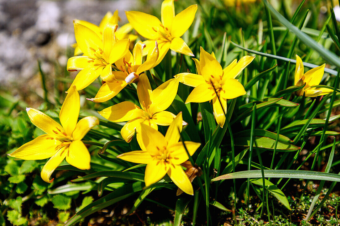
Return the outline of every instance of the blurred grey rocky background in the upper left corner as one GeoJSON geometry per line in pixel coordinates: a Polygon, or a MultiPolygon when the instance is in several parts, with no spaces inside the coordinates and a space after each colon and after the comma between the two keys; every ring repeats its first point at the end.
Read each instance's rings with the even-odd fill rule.
{"type": "Polygon", "coordinates": [[[118,10],[120,24],[124,24],[127,22],[124,11],[150,5],[146,3],[140,0],[0,0],[0,95],[10,93],[37,107],[43,95],[37,62],[41,62],[47,83],[53,83],[60,73],[60,65],[67,63],[67,51],[73,52],[70,48],[75,42],[73,19],[98,25],[107,11],[118,10]]]}

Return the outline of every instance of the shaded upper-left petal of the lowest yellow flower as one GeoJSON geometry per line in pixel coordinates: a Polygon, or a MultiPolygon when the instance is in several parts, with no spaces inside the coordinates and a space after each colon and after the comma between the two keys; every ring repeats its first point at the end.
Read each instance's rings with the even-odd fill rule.
{"type": "Polygon", "coordinates": [[[143,151],[147,151],[151,155],[159,155],[158,151],[167,147],[167,140],[163,134],[145,124],[140,125],[138,143],[143,151]]]}

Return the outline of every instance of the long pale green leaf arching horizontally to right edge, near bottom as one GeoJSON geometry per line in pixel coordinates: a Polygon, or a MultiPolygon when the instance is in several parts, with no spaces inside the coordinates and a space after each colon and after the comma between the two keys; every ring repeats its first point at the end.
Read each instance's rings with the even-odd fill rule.
{"type": "MultiPolygon", "coordinates": [[[[334,173],[322,173],[316,171],[305,170],[263,170],[265,177],[270,178],[296,178],[309,180],[324,180],[340,182],[340,175],[334,173]]],[[[211,181],[220,181],[236,178],[260,178],[262,177],[261,170],[248,170],[235,173],[224,174],[213,178],[211,181]]]]}

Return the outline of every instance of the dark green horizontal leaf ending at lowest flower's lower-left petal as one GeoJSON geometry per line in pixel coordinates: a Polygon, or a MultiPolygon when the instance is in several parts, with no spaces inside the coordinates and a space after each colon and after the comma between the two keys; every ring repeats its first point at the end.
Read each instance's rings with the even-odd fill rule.
{"type": "Polygon", "coordinates": [[[86,176],[73,179],[71,182],[79,182],[79,181],[84,181],[88,180],[91,178],[96,178],[100,176],[108,176],[108,177],[118,177],[118,178],[124,178],[124,179],[129,179],[129,180],[134,180],[134,181],[140,181],[144,182],[144,174],[141,173],[135,173],[135,172],[121,172],[121,171],[101,171],[97,173],[91,173],[86,176]]]}

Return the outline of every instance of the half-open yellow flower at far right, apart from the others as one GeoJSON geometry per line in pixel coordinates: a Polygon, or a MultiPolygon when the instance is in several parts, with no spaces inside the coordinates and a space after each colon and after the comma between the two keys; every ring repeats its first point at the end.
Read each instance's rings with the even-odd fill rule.
{"type": "Polygon", "coordinates": [[[320,84],[322,76],[325,70],[325,63],[317,68],[310,69],[304,73],[303,62],[299,56],[296,55],[296,66],[295,66],[295,86],[301,86],[306,83],[306,86],[299,91],[296,91],[297,96],[316,97],[333,93],[333,90],[327,88],[311,88],[311,86],[317,86],[320,84]]]}

